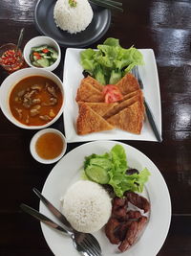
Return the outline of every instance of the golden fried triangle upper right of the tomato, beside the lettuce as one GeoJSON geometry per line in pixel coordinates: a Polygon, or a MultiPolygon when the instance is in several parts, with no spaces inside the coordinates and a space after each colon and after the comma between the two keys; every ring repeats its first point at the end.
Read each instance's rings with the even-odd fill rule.
{"type": "Polygon", "coordinates": [[[122,95],[139,89],[138,80],[131,73],[127,73],[120,81],[115,84],[118,86],[122,95]]]}

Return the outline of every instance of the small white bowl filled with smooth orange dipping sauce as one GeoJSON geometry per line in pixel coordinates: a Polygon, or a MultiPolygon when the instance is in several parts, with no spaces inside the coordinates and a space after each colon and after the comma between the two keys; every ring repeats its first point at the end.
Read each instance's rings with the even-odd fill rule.
{"type": "Polygon", "coordinates": [[[44,128],[34,134],[30,144],[32,157],[42,164],[57,162],[66,152],[65,136],[55,128],[44,128]]]}

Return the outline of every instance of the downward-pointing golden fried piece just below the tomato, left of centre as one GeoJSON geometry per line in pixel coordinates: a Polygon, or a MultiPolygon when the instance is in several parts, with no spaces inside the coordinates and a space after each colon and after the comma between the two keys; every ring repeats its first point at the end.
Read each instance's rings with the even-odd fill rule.
{"type": "Polygon", "coordinates": [[[110,109],[112,109],[117,103],[106,104],[106,103],[82,103],[78,102],[78,105],[85,104],[90,106],[98,115],[103,116],[110,109]]]}

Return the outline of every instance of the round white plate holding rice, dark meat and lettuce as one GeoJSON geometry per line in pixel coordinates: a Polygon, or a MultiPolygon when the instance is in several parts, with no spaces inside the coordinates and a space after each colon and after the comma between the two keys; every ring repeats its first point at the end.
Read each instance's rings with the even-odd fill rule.
{"type": "MultiPolygon", "coordinates": [[[[60,198],[66,189],[79,178],[84,157],[91,153],[104,153],[110,151],[116,144],[124,147],[127,155],[128,165],[138,170],[147,167],[151,173],[146,184],[146,191],[151,202],[151,213],[149,222],[137,244],[134,244],[122,255],[127,256],[155,256],[164,243],[168,233],[171,220],[171,201],[167,186],[159,169],[142,152],[123,143],[114,141],[96,141],[86,143],[75,148],[66,154],[53,168],[48,176],[42,194],[53,202],[53,205],[60,209],[60,198]]],[[[49,210],[40,203],[40,212],[53,218],[49,210]]],[[[56,256],[79,256],[74,249],[71,239],[56,230],[41,224],[47,244],[56,256]]],[[[117,256],[117,245],[110,244],[103,231],[94,233],[102,248],[103,256],[117,256]]]]}

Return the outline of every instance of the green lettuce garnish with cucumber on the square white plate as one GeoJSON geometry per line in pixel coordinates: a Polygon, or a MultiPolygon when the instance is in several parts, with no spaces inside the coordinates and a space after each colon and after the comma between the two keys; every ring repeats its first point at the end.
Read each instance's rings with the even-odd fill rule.
{"type": "Polygon", "coordinates": [[[134,66],[143,64],[143,57],[135,47],[124,49],[117,38],[109,37],[97,45],[97,51],[89,48],[81,52],[83,69],[102,84],[115,84],[134,66]]]}

